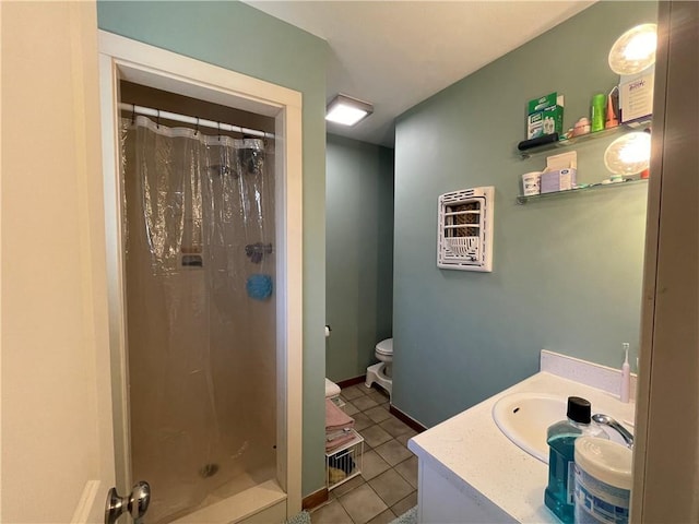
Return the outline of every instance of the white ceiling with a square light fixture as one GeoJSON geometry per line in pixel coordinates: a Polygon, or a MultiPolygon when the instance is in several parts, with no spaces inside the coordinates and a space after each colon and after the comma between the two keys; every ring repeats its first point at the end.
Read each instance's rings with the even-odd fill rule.
{"type": "Polygon", "coordinates": [[[328,131],[393,146],[394,119],[594,3],[592,1],[269,1],[246,3],[328,41],[327,102],[374,104],[328,131]]]}

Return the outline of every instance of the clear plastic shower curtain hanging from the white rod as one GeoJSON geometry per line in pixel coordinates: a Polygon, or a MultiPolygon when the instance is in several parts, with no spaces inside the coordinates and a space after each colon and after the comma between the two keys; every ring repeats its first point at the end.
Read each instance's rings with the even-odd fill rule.
{"type": "Polygon", "coordinates": [[[275,477],[271,152],[122,129],[131,469],[168,522],[275,477]]]}

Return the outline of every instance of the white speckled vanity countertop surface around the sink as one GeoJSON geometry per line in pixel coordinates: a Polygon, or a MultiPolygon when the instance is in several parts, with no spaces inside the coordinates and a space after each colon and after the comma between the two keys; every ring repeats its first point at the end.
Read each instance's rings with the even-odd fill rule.
{"type": "Polygon", "coordinates": [[[517,522],[557,523],[544,505],[548,466],[512,443],[493,420],[499,398],[529,392],[582,396],[591,402],[592,413],[611,415],[626,427],[633,420],[633,403],[624,404],[604,390],[542,371],[413,437],[407,446],[420,463],[425,461],[478,504],[495,504],[517,522]]]}

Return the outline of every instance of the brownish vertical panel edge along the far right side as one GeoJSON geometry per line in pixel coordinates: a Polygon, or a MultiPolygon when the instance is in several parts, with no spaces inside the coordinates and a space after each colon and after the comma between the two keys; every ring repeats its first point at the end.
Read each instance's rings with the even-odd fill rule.
{"type": "Polygon", "coordinates": [[[661,2],[632,522],[699,522],[699,3],[661,2]]]}

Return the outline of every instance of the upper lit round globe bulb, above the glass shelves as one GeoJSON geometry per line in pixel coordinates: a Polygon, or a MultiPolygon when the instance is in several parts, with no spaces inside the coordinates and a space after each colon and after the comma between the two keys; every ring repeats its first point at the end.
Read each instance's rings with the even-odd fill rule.
{"type": "Polygon", "coordinates": [[[641,24],[630,28],[612,46],[609,68],[617,74],[636,74],[655,63],[657,25],[641,24]]]}

